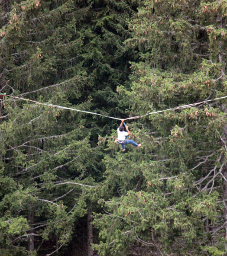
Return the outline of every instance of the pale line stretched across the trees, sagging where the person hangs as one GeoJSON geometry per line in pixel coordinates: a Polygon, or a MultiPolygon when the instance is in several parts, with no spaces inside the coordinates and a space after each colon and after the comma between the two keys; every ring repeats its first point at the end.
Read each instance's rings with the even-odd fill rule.
{"type": "MultiPolygon", "coordinates": [[[[63,106],[60,106],[60,105],[53,105],[53,104],[47,104],[47,103],[40,103],[40,102],[38,102],[38,101],[29,100],[29,99],[20,98],[20,97],[15,97],[15,96],[12,96],[12,95],[6,95],[6,94],[5,94],[5,96],[11,97],[11,98],[17,98],[17,99],[19,99],[19,100],[24,100],[24,101],[31,101],[31,102],[33,102],[33,103],[40,104],[40,105],[47,105],[48,107],[55,107],[55,108],[60,108],[60,109],[79,111],[79,112],[83,112],[83,113],[87,113],[87,114],[95,114],[95,115],[97,115],[97,116],[108,117],[108,118],[110,118],[110,119],[122,120],[122,119],[119,119],[119,118],[117,118],[117,117],[105,116],[105,115],[98,114],[98,113],[94,113],[94,112],[90,112],[90,111],[77,110],[77,109],[75,109],[75,108],[63,107],[63,106]]],[[[192,103],[192,104],[188,104],[188,105],[181,105],[181,106],[179,106],[179,107],[167,108],[166,110],[154,111],[154,112],[150,112],[150,113],[144,114],[144,115],[142,115],[142,116],[128,117],[128,118],[126,118],[126,119],[124,119],[124,120],[139,119],[139,118],[141,118],[141,117],[149,116],[149,115],[151,115],[151,114],[157,114],[157,113],[161,113],[161,112],[165,112],[165,111],[170,111],[170,110],[180,110],[180,109],[182,109],[182,108],[193,107],[194,105],[199,105],[199,104],[206,103],[206,102],[209,102],[209,101],[222,100],[223,98],[227,98],[227,96],[223,96],[223,97],[220,97],[220,98],[215,98],[215,99],[213,99],[213,100],[200,101],[199,103],[192,103]]]]}

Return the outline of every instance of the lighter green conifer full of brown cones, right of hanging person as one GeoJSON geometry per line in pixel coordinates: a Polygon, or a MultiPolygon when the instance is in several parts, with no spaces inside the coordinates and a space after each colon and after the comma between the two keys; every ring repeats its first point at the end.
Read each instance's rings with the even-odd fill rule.
{"type": "MultiPolygon", "coordinates": [[[[141,1],[127,49],[139,51],[119,94],[129,116],[226,96],[224,1],[141,1]]],[[[128,122],[129,123],[129,122],[128,122]]],[[[131,122],[142,149],[109,139],[111,199],[97,215],[101,255],[225,255],[226,99],[131,122]]],[[[114,132],[113,132],[114,133],[114,132]]]]}

